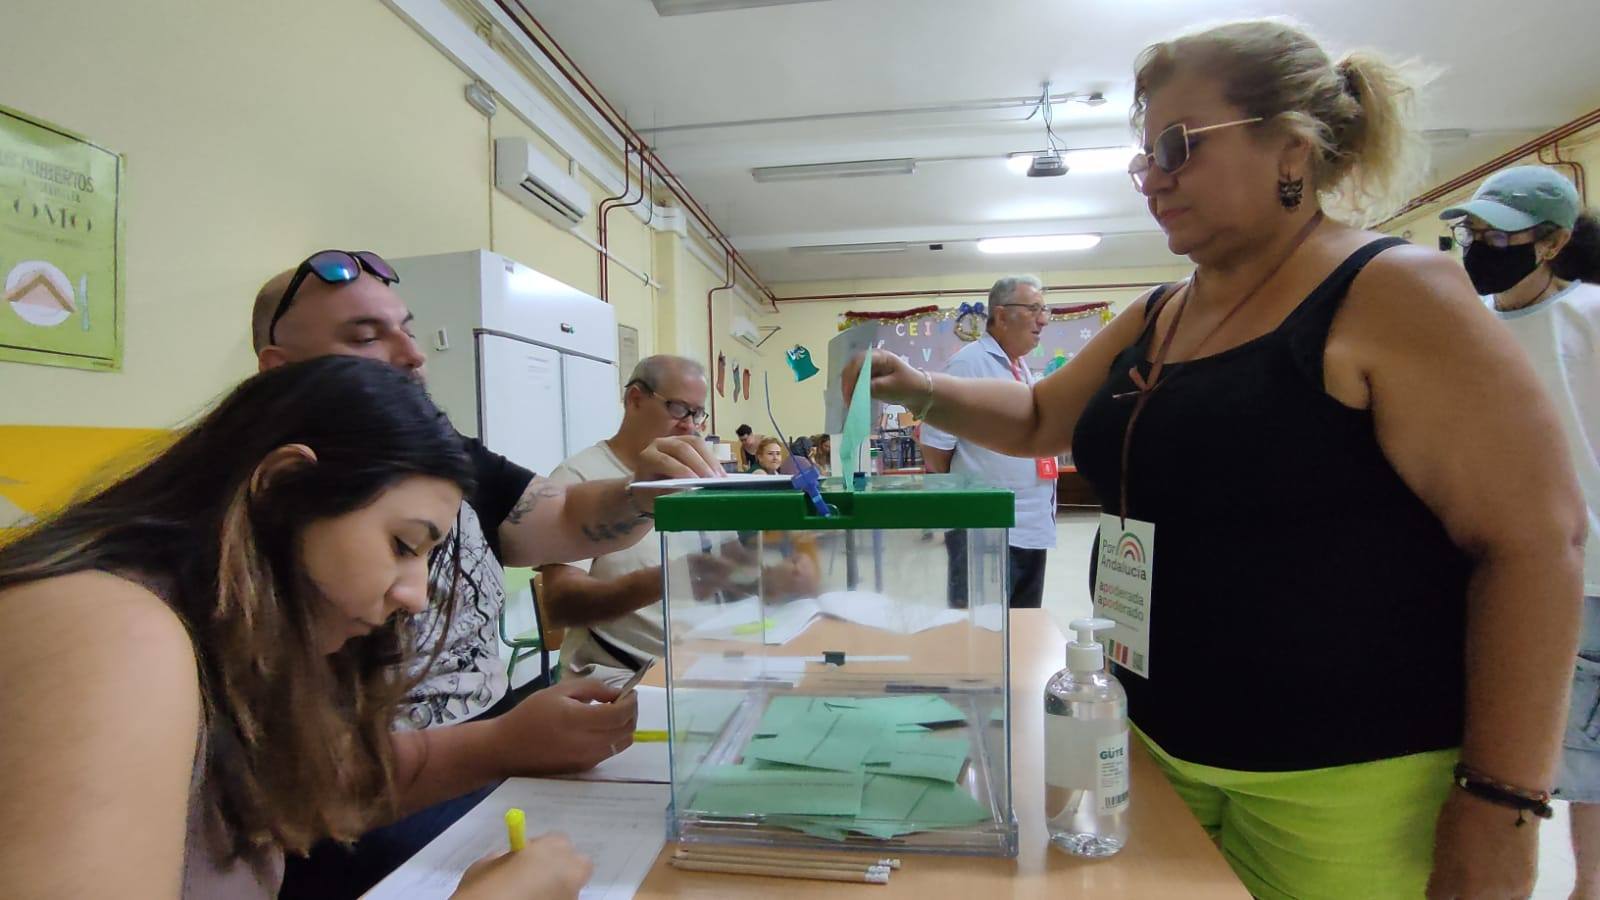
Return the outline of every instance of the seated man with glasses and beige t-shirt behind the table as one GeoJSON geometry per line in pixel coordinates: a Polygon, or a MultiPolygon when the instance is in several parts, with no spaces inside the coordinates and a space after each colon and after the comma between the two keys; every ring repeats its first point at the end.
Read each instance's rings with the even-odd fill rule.
{"type": "MultiPolygon", "coordinates": [[[[550,472],[558,485],[632,477],[651,440],[698,434],[706,423],[706,368],[678,356],[638,362],[622,392],[622,424],[550,472]]],[[[638,543],[568,565],[546,565],[544,610],[552,628],[570,628],[562,645],[568,673],[624,681],[662,655],[661,541],[638,543]]]]}

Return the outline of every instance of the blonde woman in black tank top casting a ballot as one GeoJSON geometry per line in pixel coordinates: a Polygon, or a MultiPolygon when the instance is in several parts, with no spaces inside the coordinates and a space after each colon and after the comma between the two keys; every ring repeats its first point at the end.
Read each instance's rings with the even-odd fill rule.
{"type": "Polygon", "coordinates": [[[1152,528],[1130,717],[1264,900],[1525,897],[1555,780],[1582,500],[1461,267],[1358,227],[1416,171],[1408,93],[1274,21],[1157,43],[1131,175],[1194,275],[1032,388],[872,356],[1152,528]]]}

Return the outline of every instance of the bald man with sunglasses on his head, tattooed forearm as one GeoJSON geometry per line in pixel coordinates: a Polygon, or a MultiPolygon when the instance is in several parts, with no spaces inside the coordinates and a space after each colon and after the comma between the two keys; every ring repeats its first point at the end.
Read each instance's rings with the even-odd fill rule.
{"type": "MultiPolygon", "coordinates": [[[[397,280],[378,255],[338,250],[314,253],[272,277],[256,295],[251,315],[259,368],[346,354],[384,360],[422,380],[427,357],[411,333],[411,311],[394,290],[397,280]]],[[[475,439],[466,445],[477,487],[461,504],[451,540],[430,560],[434,602],[414,629],[414,674],[422,681],[397,724],[429,729],[418,751],[448,754],[450,765],[429,769],[454,777],[402,785],[402,810],[421,812],[363,838],[354,855],[320,847],[310,863],[291,860],[280,897],[358,895],[482,799],[485,785],[510,775],[590,769],[634,740],[637,700],[610,703],[616,692],[595,681],[573,679],[518,703],[522,697],[509,690],[499,660],[501,567],[627,549],[650,532],[653,500],[629,492],[629,479],[621,477],[555,485],[475,439]],[[451,594],[456,612],[446,620],[443,601],[451,594]],[[432,658],[445,628],[443,650],[432,658]],[[424,809],[448,798],[458,799],[424,809]]],[[[634,472],[632,480],[654,480],[717,476],[720,468],[710,450],[686,434],[650,442],[634,472]]]]}

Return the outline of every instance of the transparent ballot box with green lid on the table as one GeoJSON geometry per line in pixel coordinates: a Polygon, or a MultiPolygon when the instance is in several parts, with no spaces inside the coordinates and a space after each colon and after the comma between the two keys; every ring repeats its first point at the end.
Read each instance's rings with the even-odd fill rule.
{"type": "Polygon", "coordinates": [[[1013,496],[869,482],[656,503],[674,839],[1016,855],[1013,496]]]}

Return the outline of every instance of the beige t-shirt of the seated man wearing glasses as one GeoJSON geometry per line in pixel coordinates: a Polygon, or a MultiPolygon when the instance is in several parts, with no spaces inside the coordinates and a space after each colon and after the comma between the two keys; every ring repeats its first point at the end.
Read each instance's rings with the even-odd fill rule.
{"type": "MultiPolygon", "coordinates": [[[[624,466],[603,440],[594,447],[573,453],[566,458],[566,461],[557,466],[554,472],[550,472],[550,480],[560,485],[574,485],[597,479],[632,477],[632,469],[624,466]]],[[[659,567],[661,540],[656,536],[656,528],[651,525],[650,532],[646,532],[638,543],[627,549],[619,549],[594,559],[570,562],[568,565],[582,569],[594,578],[621,578],[624,575],[632,575],[640,569],[659,567]]],[[[645,609],[634,610],[621,618],[613,618],[611,621],[602,625],[573,628],[566,633],[566,639],[562,642],[563,665],[574,669],[589,665],[600,665],[613,669],[632,668],[626,666],[624,660],[614,658],[595,644],[592,633],[598,633],[603,641],[618,650],[632,655],[634,660],[659,657],[666,652],[661,618],[661,602],[658,601],[645,609]]]]}

